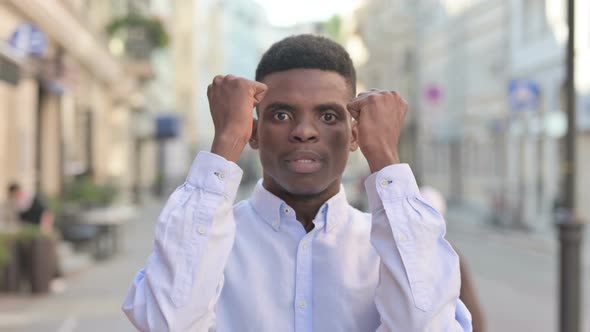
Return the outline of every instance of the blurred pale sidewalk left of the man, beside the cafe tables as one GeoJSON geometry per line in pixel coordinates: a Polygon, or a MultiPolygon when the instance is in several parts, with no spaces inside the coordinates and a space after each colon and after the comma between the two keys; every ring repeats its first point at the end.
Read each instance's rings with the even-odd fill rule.
{"type": "Polygon", "coordinates": [[[139,206],[138,218],[123,226],[121,251],[67,277],[63,293],[0,295],[0,331],[131,331],[121,304],[151,250],[163,204],[149,200],[139,206]]]}

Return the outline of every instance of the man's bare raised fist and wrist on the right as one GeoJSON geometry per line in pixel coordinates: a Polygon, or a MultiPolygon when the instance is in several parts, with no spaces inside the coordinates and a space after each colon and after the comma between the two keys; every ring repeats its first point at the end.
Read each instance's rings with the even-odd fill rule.
{"type": "Polygon", "coordinates": [[[395,91],[372,89],[360,93],[347,105],[358,122],[358,143],[371,173],[398,164],[398,143],[408,103],[395,91]]]}

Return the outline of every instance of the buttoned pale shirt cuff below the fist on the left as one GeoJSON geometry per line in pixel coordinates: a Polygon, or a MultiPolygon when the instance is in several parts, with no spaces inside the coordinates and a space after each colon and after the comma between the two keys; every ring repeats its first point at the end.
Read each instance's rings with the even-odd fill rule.
{"type": "Polygon", "coordinates": [[[234,162],[206,151],[195,157],[186,182],[192,186],[235,200],[243,175],[234,162]]]}

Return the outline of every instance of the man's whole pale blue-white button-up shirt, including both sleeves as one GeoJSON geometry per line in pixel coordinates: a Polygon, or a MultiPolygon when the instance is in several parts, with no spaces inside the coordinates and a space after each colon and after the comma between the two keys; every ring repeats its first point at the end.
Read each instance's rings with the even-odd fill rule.
{"type": "Polygon", "coordinates": [[[141,331],[471,331],[443,218],[408,165],[366,180],[371,214],[344,190],[307,233],[242,170],[201,152],[170,197],[155,246],[123,304],[141,331]]]}

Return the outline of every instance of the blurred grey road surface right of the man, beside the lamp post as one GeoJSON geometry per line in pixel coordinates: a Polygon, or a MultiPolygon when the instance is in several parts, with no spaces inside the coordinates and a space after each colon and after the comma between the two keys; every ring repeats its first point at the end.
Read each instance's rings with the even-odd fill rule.
{"type": "MultiPolygon", "coordinates": [[[[486,331],[557,331],[556,233],[531,235],[483,223],[468,209],[449,209],[447,239],[471,271],[486,331]]],[[[590,276],[589,243],[586,237],[584,280],[590,276]]],[[[590,304],[590,289],[584,289],[582,302],[590,304]]],[[[582,313],[582,319],[581,331],[590,331],[590,315],[582,313]]]]}

